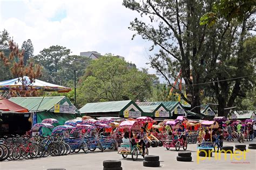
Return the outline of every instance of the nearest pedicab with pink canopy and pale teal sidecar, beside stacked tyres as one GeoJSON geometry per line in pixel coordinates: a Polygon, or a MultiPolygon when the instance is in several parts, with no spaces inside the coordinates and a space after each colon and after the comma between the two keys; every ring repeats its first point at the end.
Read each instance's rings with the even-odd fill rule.
{"type": "MultiPolygon", "coordinates": [[[[150,120],[150,119],[148,119],[150,120]]],[[[143,126],[143,124],[145,123],[145,121],[142,120],[125,120],[122,121],[118,127],[119,131],[123,131],[123,132],[129,132],[130,136],[132,132],[136,132],[139,131],[140,127],[143,126]]],[[[138,155],[143,155],[143,149],[142,146],[139,145],[139,140],[135,140],[137,142],[136,145],[132,145],[131,142],[129,145],[126,144],[120,144],[118,146],[118,154],[122,154],[123,158],[127,158],[128,155],[132,155],[132,160],[137,160],[138,159],[138,155]]],[[[145,147],[145,154],[148,155],[149,154],[149,149],[147,149],[147,147],[145,147]]]]}

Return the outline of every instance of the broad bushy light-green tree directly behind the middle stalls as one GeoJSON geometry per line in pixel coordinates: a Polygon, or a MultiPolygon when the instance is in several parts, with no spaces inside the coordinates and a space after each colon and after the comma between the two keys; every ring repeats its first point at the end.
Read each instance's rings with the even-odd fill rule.
{"type": "Polygon", "coordinates": [[[80,79],[78,105],[96,101],[140,100],[151,96],[154,78],[146,70],[130,68],[117,57],[101,57],[80,79]]]}

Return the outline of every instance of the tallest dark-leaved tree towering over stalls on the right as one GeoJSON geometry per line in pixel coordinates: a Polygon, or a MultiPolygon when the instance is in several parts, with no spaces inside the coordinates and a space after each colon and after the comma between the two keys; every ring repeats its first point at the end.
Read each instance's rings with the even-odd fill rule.
{"type": "Polygon", "coordinates": [[[129,29],[136,32],[134,36],[152,42],[150,50],[159,47],[150,63],[169,86],[170,79],[175,79],[181,70],[187,98],[177,89],[174,92],[195,107],[194,112],[200,112],[196,107],[201,105],[200,92],[211,90],[219,104],[218,114],[227,115],[224,108],[234,105],[242,93],[242,81],[253,84],[250,75],[254,58],[243,57],[247,52],[243,44],[252,37],[249,30],[254,30],[254,10],[246,11],[241,21],[224,17],[207,26],[199,23],[201,16],[212,11],[211,0],[124,0],[123,5],[142,17],[135,18],[129,29]],[[242,78],[233,79],[237,77],[242,78]]]}

